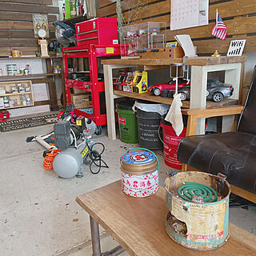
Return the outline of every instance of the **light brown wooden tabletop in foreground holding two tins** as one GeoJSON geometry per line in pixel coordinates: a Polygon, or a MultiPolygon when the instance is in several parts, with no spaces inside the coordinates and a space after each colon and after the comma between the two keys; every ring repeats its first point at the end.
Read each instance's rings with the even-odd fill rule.
{"type": "Polygon", "coordinates": [[[186,249],[174,242],[165,230],[165,190],[149,198],[131,198],[122,193],[121,181],[82,194],[76,201],[119,244],[134,256],[253,256],[253,234],[230,224],[230,239],[218,250],[186,249]]]}

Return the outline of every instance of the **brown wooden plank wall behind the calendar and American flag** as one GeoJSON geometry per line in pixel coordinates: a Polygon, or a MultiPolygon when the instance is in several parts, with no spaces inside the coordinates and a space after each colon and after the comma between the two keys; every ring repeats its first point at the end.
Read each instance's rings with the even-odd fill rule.
{"type": "MultiPolygon", "coordinates": [[[[127,18],[130,0],[122,0],[123,15],[127,18]]],[[[99,17],[116,17],[115,0],[98,1],[99,17]]],[[[211,36],[214,26],[216,8],[226,25],[228,37],[218,40],[218,51],[226,53],[230,40],[246,39],[245,52],[256,51],[256,1],[255,0],[210,0],[209,25],[183,30],[170,30],[170,0],[142,0],[148,4],[147,9],[138,15],[137,22],[166,22],[167,42],[174,40],[176,34],[190,34],[198,54],[212,54],[215,50],[215,39],[211,36]]]]}

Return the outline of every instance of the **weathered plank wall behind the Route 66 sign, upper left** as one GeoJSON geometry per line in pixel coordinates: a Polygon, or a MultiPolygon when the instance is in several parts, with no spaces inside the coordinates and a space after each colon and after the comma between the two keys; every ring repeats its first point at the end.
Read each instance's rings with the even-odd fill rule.
{"type": "Polygon", "coordinates": [[[47,14],[50,38],[54,38],[52,22],[59,9],[52,5],[52,0],[0,0],[0,55],[11,55],[11,50],[21,50],[23,55],[38,51],[32,14],[47,14]]]}

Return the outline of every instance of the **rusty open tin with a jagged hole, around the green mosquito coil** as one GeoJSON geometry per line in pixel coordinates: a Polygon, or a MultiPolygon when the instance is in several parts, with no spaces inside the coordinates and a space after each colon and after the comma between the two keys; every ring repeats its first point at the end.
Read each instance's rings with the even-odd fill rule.
{"type": "Polygon", "coordinates": [[[194,250],[214,250],[228,240],[230,185],[225,178],[202,172],[180,172],[166,178],[166,232],[178,244],[194,250]],[[186,183],[187,182],[187,183],[186,183]],[[189,182],[209,186],[217,192],[216,202],[192,202],[178,195],[189,182]]]}

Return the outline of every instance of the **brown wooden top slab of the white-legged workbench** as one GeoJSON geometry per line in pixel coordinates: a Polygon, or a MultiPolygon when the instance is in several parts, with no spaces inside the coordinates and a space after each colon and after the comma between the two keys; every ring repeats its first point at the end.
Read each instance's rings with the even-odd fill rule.
{"type": "MultiPolygon", "coordinates": [[[[182,58],[155,58],[155,59],[136,59],[136,58],[113,58],[103,59],[103,65],[131,65],[131,66],[168,66],[174,63],[182,63],[182,58]]],[[[231,64],[238,62],[246,62],[246,55],[233,57],[194,57],[186,58],[186,65],[190,66],[210,66],[219,64],[231,64]]]]}

